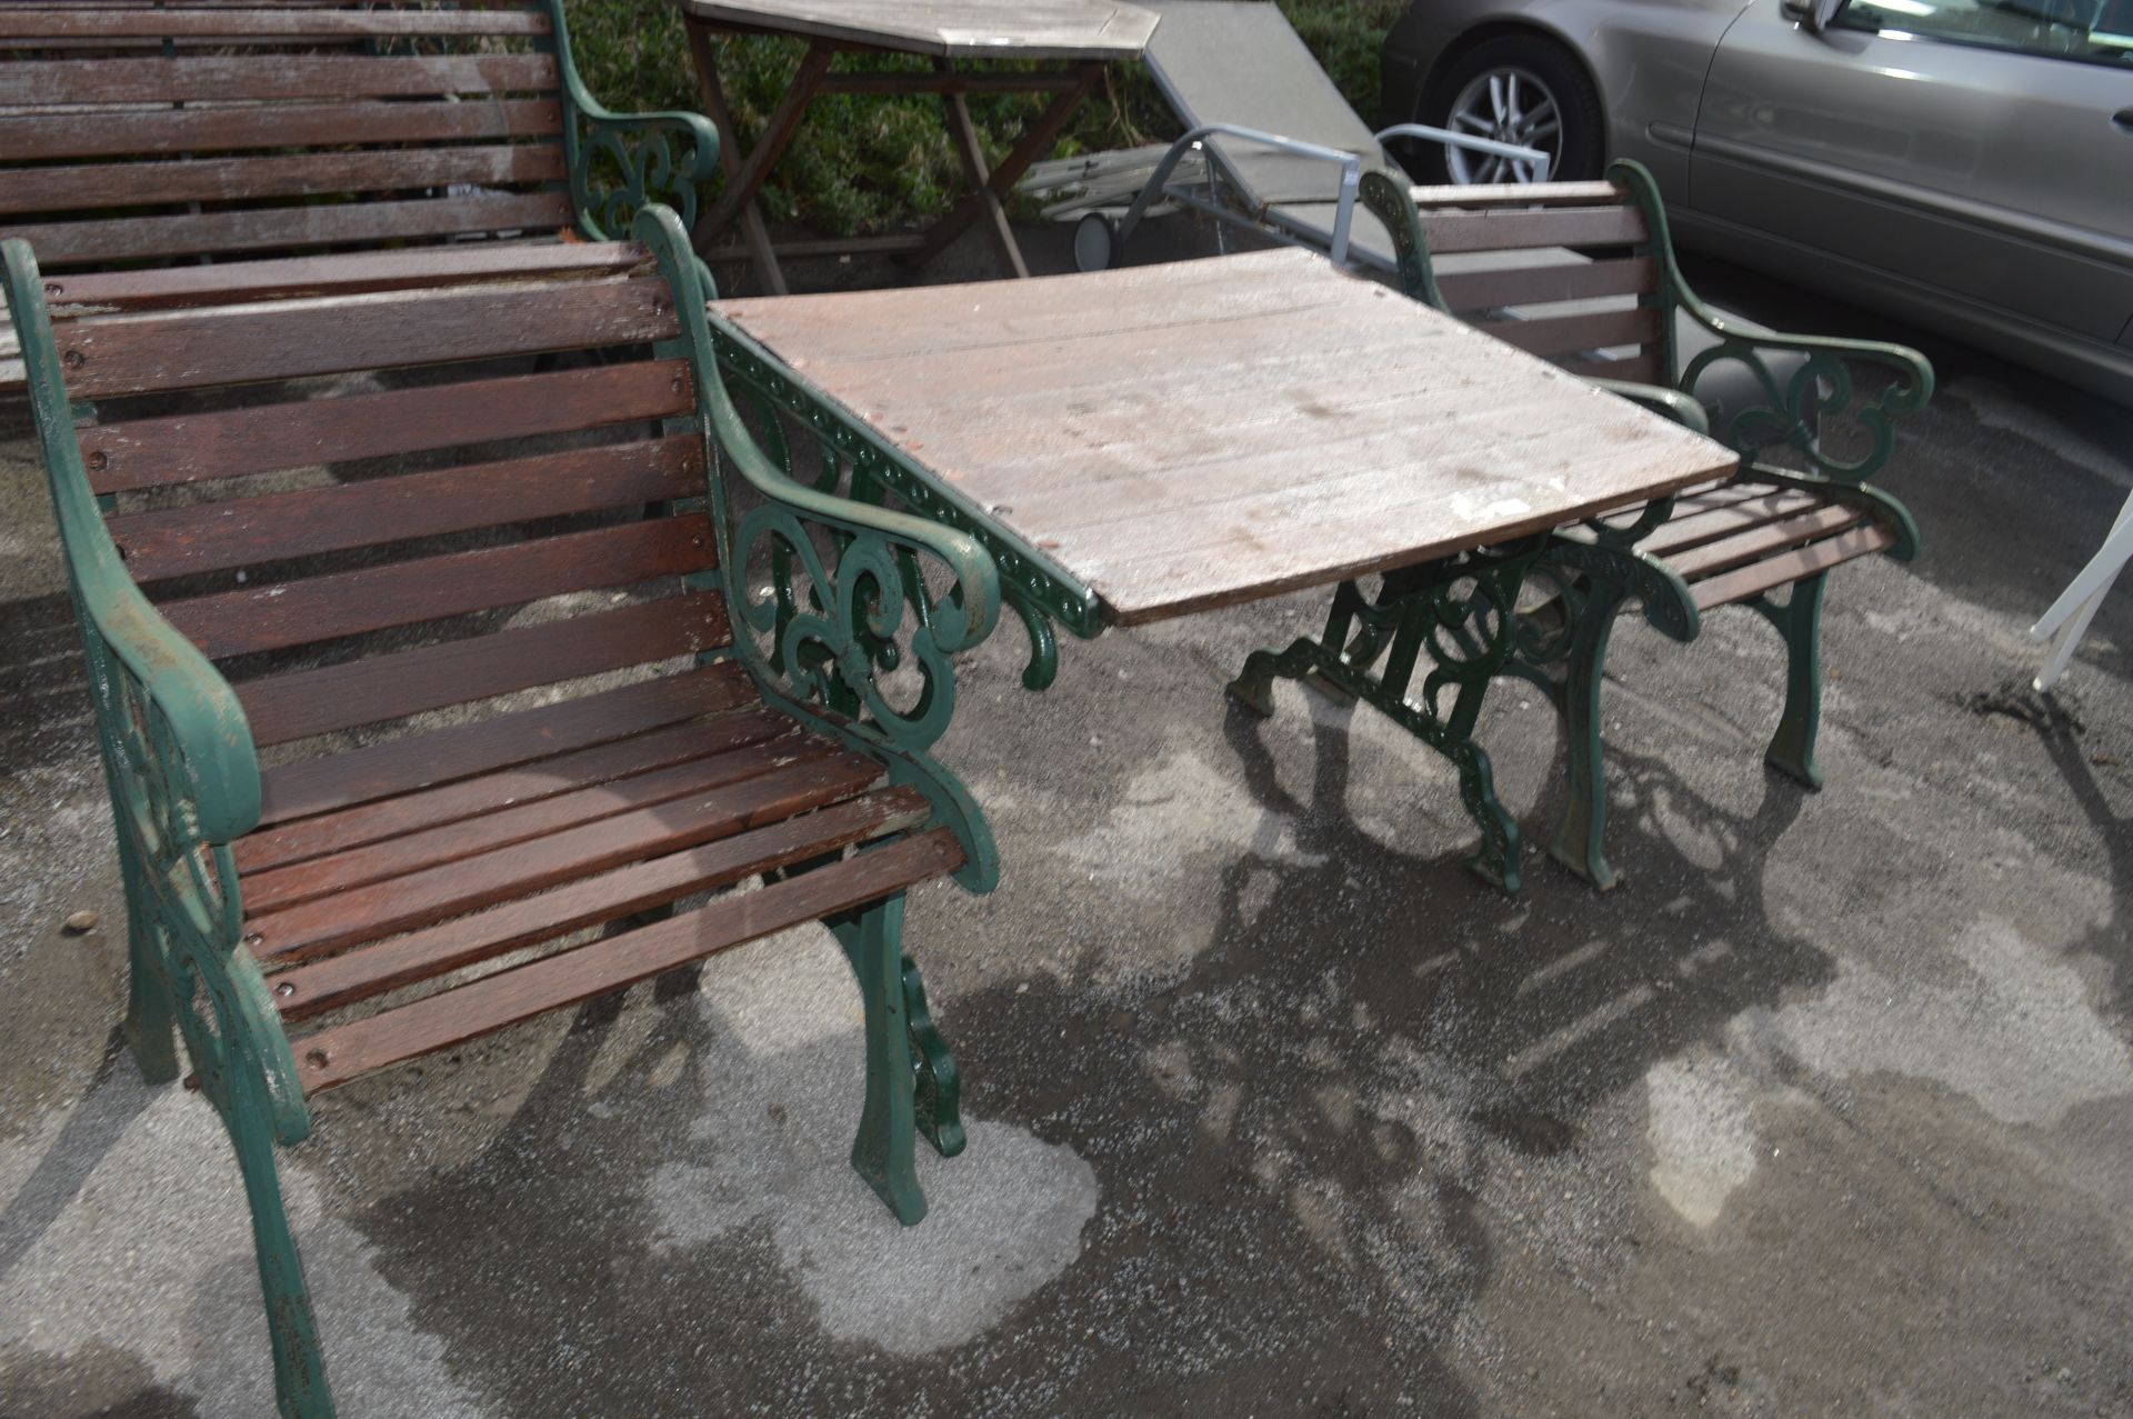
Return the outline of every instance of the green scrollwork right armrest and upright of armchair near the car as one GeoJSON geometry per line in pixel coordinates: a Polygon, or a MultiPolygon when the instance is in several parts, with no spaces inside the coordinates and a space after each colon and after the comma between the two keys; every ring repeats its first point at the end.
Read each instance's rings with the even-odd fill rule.
{"type": "Polygon", "coordinates": [[[1672,309],[1681,309],[1717,337],[1713,348],[1670,369],[1674,386],[1694,390],[1704,371],[1732,363],[1747,369],[1762,395],[1758,403],[1728,410],[1719,427],[1711,429],[1713,437],[1745,457],[1773,444],[1790,446],[1813,474],[1832,482],[1862,482],[1879,472],[1896,448],[1894,420],[1915,414],[1932,399],[1932,365],[1926,356],[1888,341],[1785,335],[1711,309],[1681,277],[1666,205],[1651,173],[1640,162],[1623,158],[1608,166],[1608,181],[1638,205],[1651,230],[1647,254],[1659,262],[1659,307],[1662,316],[1668,316],[1662,329],[1668,333],[1668,346],[1672,348],[1672,309]],[[1800,356],[1798,369],[1781,380],[1770,369],[1775,354],[1800,356]],[[1877,388],[1862,388],[1854,365],[1873,365],[1890,378],[1877,388]],[[1826,422],[1834,416],[1847,416],[1864,431],[1866,450],[1856,459],[1841,459],[1824,448],[1826,422]]]}

